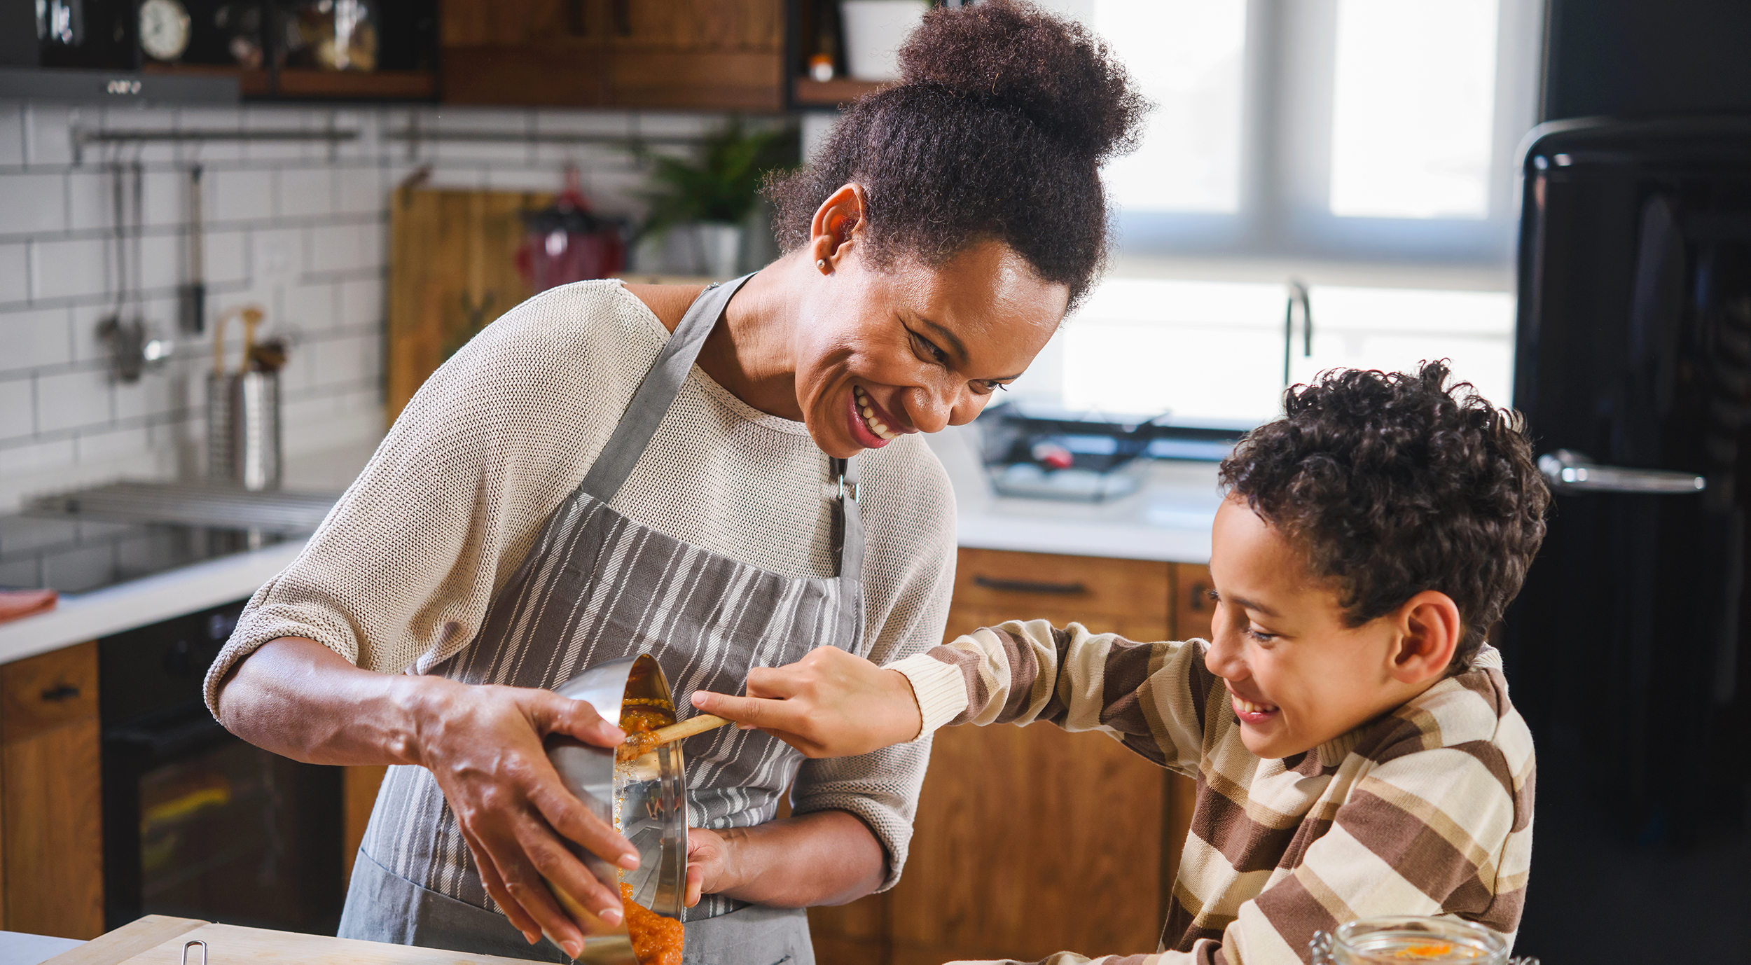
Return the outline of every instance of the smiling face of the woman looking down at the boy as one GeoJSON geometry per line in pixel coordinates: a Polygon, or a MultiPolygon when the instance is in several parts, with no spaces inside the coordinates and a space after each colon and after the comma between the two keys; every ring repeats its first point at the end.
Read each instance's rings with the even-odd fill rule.
{"type": "Polygon", "coordinates": [[[1019,377],[1065,315],[1070,289],[1010,247],[979,242],[940,266],[872,266],[839,247],[795,329],[797,405],[833,457],[963,426],[1019,377]]]}

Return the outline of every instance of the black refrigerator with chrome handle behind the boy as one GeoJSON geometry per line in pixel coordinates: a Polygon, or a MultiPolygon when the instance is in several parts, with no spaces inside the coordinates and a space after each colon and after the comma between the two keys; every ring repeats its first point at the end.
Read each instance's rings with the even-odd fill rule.
{"type": "Polygon", "coordinates": [[[1751,117],[1525,152],[1515,408],[1550,532],[1501,629],[1537,744],[1518,954],[1751,961],[1751,117]]]}

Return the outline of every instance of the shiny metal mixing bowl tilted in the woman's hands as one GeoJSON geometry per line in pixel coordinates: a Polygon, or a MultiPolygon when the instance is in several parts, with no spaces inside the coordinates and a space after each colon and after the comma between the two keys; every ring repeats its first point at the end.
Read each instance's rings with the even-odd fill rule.
{"type": "MultiPolygon", "coordinates": [[[[588,701],[604,720],[620,722],[623,706],[641,706],[674,723],[674,699],[662,667],[648,653],[623,657],[583,671],[557,688],[562,697],[588,701]]],[[[644,755],[615,764],[613,748],[595,748],[573,737],[552,736],[548,760],[571,793],[606,821],[615,820],[620,800],[620,832],[639,849],[637,870],[627,872],[632,900],[669,918],[681,918],[686,886],[686,771],[679,744],[662,744],[644,755]]],[[[573,844],[573,853],[611,891],[620,891],[615,865],[573,844]]],[[[583,928],[587,965],[637,965],[625,921],[608,925],[571,895],[553,888],[560,905],[583,928]]]]}

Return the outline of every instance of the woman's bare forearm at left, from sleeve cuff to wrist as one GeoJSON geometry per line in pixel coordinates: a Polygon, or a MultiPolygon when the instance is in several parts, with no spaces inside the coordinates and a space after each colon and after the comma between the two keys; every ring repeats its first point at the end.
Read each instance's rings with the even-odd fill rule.
{"type": "Polygon", "coordinates": [[[313,639],[280,637],[219,685],[219,723],[306,764],[420,764],[420,704],[454,681],[359,669],[313,639]]]}

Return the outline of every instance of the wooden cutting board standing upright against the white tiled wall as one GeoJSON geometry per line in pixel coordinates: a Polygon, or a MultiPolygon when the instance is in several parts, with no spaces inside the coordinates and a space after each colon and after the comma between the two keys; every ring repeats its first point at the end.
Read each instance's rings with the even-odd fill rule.
{"type": "Polygon", "coordinates": [[[538,191],[440,191],[403,186],[389,203],[389,354],[385,415],[483,324],[529,298],[517,271],[524,212],[538,191]]]}

